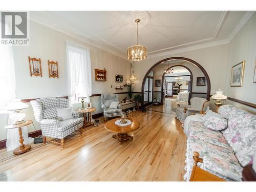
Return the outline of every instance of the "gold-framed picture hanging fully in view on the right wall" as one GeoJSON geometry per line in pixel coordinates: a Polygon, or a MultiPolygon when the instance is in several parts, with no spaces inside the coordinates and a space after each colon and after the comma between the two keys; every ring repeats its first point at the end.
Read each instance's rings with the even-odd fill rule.
{"type": "Polygon", "coordinates": [[[245,61],[238,63],[231,68],[231,87],[242,87],[243,76],[244,76],[245,61]]]}

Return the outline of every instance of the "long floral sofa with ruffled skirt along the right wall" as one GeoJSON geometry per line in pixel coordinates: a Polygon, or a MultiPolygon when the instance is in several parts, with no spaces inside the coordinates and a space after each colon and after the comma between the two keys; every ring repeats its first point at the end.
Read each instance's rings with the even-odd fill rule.
{"type": "Polygon", "coordinates": [[[200,168],[227,181],[241,181],[243,167],[252,163],[256,151],[256,115],[232,105],[221,106],[219,114],[227,120],[227,129],[223,131],[212,131],[205,127],[203,115],[186,118],[184,180],[189,181],[195,163],[194,152],[198,152],[203,159],[203,163],[198,163],[200,168]]]}

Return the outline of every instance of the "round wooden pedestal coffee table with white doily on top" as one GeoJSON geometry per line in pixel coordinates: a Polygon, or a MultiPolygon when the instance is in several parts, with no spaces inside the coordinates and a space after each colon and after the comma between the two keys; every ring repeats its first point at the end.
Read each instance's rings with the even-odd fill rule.
{"type": "Polygon", "coordinates": [[[127,118],[130,121],[132,121],[132,124],[126,125],[126,126],[118,126],[115,124],[115,121],[117,119],[120,119],[120,118],[112,119],[112,120],[109,120],[108,122],[106,122],[104,125],[105,129],[110,132],[117,133],[117,134],[113,135],[112,137],[117,139],[120,144],[122,144],[123,141],[126,141],[128,139],[133,139],[133,136],[128,135],[128,133],[134,132],[139,129],[139,127],[140,127],[139,121],[137,121],[135,119],[127,118]]]}

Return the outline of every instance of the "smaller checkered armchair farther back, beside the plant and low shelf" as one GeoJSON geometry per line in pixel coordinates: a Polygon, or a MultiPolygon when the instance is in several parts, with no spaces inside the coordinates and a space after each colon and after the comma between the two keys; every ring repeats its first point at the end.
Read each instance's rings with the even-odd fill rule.
{"type": "Polygon", "coordinates": [[[111,109],[112,101],[118,101],[118,94],[104,93],[101,94],[101,108],[103,109],[104,118],[119,117],[121,116],[121,104],[119,103],[118,109],[111,109]]]}

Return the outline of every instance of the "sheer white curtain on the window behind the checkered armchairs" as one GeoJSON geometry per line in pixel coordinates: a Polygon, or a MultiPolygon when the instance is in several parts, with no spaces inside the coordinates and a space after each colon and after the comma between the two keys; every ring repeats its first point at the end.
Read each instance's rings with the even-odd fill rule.
{"type": "MultiPolygon", "coordinates": [[[[90,49],[66,41],[66,54],[69,98],[77,93],[79,77],[81,77],[83,93],[80,94],[87,97],[86,102],[90,102],[92,95],[90,49]]],[[[71,104],[70,100],[69,103],[71,104]]]]}

